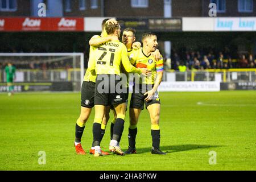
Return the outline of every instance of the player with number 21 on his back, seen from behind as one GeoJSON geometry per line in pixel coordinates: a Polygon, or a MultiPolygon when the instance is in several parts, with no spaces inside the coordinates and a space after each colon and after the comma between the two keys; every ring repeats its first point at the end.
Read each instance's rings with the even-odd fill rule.
{"type": "MultiPolygon", "coordinates": [[[[119,24],[105,24],[105,30],[108,35],[120,36],[119,24]]],[[[114,124],[113,139],[110,142],[112,152],[117,155],[123,155],[123,151],[117,145],[119,137],[122,134],[125,119],[125,96],[122,88],[120,69],[121,64],[129,73],[147,74],[146,68],[135,68],[131,65],[127,49],[119,41],[110,41],[101,44],[94,52],[94,61],[91,61],[89,68],[91,72],[96,72],[96,91],[94,96],[95,117],[93,123],[93,143],[94,156],[102,155],[100,148],[100,131],[102,118],[105,114],[105,107],[113,105],[117,113],[117,119],[114,124]]]]}

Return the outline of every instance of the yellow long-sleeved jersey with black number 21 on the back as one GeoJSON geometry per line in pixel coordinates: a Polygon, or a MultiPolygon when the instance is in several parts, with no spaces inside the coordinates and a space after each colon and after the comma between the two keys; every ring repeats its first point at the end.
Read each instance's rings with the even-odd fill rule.
{"type": "Polygon", "coordinates": [[[88,68],[96,75],[120,75],[121,64],[126,72],[141,74],[141,69],[133,67],[129,61],[125,45],[119,41],[109,41],[98,46],[92,55],[93,61],[88,68]]]}

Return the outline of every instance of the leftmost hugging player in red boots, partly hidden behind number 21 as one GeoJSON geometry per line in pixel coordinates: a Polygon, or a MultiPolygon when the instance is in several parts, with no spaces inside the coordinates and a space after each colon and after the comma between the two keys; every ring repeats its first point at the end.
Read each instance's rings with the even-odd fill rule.
{"type": "MultiPolygon", "coordinates": [[[[90,42],[97,42],[97,38],[101,38],[103,36],[106,36],[105,31],[105,23],[117,23],[114,19],[104,19],[102,21],[102,32],[101,35],[94,35],[90,42]]],[[[108,36],[105,37],[102,40],[103,42],[109,41],[109,40],[116,40],[116,36],[108,36]]],[[[97,42],[101,43],[101,42],[97,42]]],[[[90,47],[90,54],[94,51],[94,47],[90,47]]],[[[89,57],[90,58],[90,57],[89,57]]],[[[89,60],[90,61],[90,60],[89,60]]],[[[83,150],[81,146],[81,138],[82,133],[84,132],[85,123],[88,121],[90,113],[92,111],[92,107],[94,106],[94,93],[95,93],[95,81],[96,81],[96,74],[91,73],[89,70],[86,71],[84,76],[84,81],[82,82],[82,88],[81,88],[81,111],[80,111],[80,117],[76,121],[76,132],[75,132],[75,148],[76,153],[85,155],[85,151],[83,150]]],[[[108,155],[108,152],[102,151],[102,154],[108,155]]]]}

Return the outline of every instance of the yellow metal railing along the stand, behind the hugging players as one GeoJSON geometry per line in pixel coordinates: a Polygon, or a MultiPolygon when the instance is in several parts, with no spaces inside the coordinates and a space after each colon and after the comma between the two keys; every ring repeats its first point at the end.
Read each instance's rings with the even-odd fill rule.
{"type": "MultiPolygon", "coordinates": [[[[16,82],[81,82],[81,72],[76,69],[17,69],[16,82]]],[[[193,70],[179,72],[174,70],[164,71],[163,81],[256,81],[256,69],[208,69],[203,71],[193,70]]],[[[0,70],[0,82],[6,82],[6,74],[0,70]]]]}

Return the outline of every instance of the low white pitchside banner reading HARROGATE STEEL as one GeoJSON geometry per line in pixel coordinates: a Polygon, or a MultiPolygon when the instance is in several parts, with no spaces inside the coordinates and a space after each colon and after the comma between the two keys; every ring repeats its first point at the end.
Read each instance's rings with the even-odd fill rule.
{"type": "Polygon", "coordinates": [[[218,92],[220,82],[217,81],[174,81],[161,82],[159,92],[218,92]]]}

